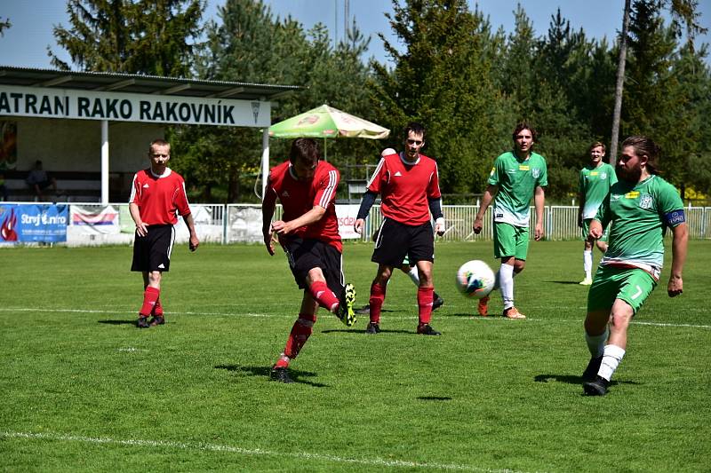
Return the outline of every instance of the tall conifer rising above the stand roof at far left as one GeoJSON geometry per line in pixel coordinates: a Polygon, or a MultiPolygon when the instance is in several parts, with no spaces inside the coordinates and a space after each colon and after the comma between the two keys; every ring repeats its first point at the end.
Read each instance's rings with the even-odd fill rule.
{"type": "MultiPolygon", "coordinates": [[[[83,70],[188,77],[204,8],[204,0],[68,0],[71,27],[53,33],[83,70]]],[[[52,66],[70,69],[47,51],[52,66]]]]}

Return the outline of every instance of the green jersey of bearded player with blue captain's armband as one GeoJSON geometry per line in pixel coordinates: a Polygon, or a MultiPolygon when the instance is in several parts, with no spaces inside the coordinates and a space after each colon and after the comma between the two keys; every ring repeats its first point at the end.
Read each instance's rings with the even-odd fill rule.
{"type": "Polygon", "coordinates": [[[640,183],[612,185],[595,220],[611,223],[609,246],[600,265],[636,267],[659,280],[667,226],[683,224],[683,201],[673,185],[652,175],[640,183]]]}

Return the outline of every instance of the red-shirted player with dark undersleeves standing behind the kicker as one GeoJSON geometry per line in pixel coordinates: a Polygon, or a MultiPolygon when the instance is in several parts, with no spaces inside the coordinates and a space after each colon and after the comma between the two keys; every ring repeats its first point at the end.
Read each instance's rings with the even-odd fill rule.
{"type": "Polygon", "coordinates": [[[375,241],[371,260],[378,263],[378,272],[371,285],[370,323],[365,331],[380,331],[380,311],[385,301],[387,281],[393,269],[403,264],[405,256],[416,264],[419,272],[417,303],[419,324],[417,333],[441,335],[429,325],[435,291],[432,264],[435,260],[435,235],[430,213],[435,218],[435,233],[444,233],[442,196],[439,191],[437,163],[419,151],[425,146],[425,128],[411,122],[404,130],[405,151],[387,154],[378,163],[368,189],[363,194],[354,228],[363,233],[365,218],[375,198],[380,194],[383,223],[375,241]]]}

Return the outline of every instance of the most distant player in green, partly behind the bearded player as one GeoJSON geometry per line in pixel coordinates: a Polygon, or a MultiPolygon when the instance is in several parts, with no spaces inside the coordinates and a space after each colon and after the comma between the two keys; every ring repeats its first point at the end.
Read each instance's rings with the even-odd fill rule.
{"type": "MultiPolygon", "coordinates": [[[[583,286],[589,286],[593,283],[593,242],[587,240],[587,233],[590,229],[590,221],[595,217],[597,209],[603,202],[603,199],[610,192],[611,185],[617,182],[615,169],[612,169],[610,164],[603,162],[605,155],[605,146],[597,141],[588,149],[590,154],[590,163],[583,169],[580,169],[578,200],[580,202],[578,209],[578,226],[581,229],[583,240],[585,240],[585,249],[583,250],[583,270],[585,271],[585,279],[580,281],[583,286]]],[[[600,240],[596,240],[597,248],[603,253],[607,251],[606,235],[600,240]]]]}

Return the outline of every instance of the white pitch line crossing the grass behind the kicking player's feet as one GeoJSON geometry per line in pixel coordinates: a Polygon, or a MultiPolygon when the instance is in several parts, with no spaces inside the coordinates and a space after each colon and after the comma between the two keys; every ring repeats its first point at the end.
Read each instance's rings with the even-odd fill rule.
{"type": "MultiPolygon", "coordinates": [[[[561,309],[556,307],[549,307],[549,309],[561,309]]],[[[96,309],[41,309],[41,308],[28,308],[28,307],[0,307],[0,312],[69,312],[69,313],[107,313],[107,314],[130,314],[135,315],[135,311],[108,311],[108,310],[96,310],[96,309]]],[[[183,312],[172,312],[166,311],[166,315],[199,315],[206,317],[253,317],[253,318],[279,318],[279,319],[293,319],[293,315],[289,314],[274,314],[274,313],[258,313],[258,312],[193,312],[193,311],[183,311],[183,312]]],[[[328,317],[327,314],[323,314],[321,317],[328,317]]],[[[389,320],[411,320],[415,318],[414,315],[387,315],[389,320]]],[[[479,316],[469,316],[467,319],[478,320],[482,322],[509,322],[509,319],[505,317],[492,316],[492,317],[479,317],[479,316]]],[[[525,321],[527,322],[562,322],[562,323],[582,323],[580,319],[536,319],[529,317],[525,321]]],[[[521,323],[521,322],[517,322],[521,323]]],[[[701,325],[701,324],[683,324],[683,323],[668,323],[668,322],[644,322],[635,321],[631,322],[633,325],[645,325],[649,327],[673,327],[673,328],[705,328],[711,329],[711,325],[701,325]]]]}

